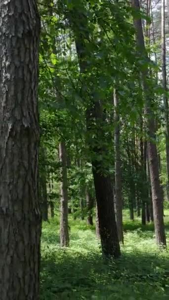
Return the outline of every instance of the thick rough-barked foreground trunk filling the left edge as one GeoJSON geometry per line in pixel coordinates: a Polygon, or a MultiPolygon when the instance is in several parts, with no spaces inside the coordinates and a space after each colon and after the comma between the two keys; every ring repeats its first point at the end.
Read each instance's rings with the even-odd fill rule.
{"type": "Polygon", "coordinates": [[[0,300],[38,300],[41,213],[35,1],[0,0],[0,300]]]}

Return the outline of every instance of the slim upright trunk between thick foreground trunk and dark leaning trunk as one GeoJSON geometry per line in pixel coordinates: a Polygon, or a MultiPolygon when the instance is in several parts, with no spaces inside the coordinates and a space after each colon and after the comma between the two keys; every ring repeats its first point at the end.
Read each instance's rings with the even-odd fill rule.
{"type": "Polygon", "coordinates": [[[59,160],[61,163],[60,183],[60,246],[69,246],[68,230],[68,183],[67,183],[67,157],[65,142],[59,143],[59,160]]]}

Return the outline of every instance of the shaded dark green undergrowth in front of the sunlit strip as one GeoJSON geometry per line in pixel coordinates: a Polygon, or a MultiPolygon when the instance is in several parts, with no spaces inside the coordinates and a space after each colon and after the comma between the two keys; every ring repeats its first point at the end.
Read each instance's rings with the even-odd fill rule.
{"type": "Polygon", "coordinates": [[[42,248],[41,300],[124,299],[169,299],[169,260],[133,252],[113,262],[99,251],[81,253],[54,244],[42,248]]]}

